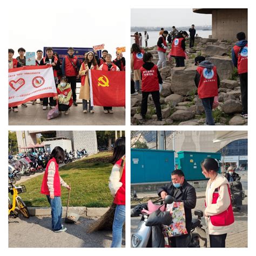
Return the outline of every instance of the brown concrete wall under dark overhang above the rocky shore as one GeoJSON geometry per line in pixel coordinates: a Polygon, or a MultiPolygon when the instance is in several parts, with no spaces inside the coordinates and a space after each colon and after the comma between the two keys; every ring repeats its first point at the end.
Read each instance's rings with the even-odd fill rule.
{"type": "Polygon", "coordinates": [[[212,10],[212,38],[232,41],[241,31],[247,38],[247,9],[212,10]]]}

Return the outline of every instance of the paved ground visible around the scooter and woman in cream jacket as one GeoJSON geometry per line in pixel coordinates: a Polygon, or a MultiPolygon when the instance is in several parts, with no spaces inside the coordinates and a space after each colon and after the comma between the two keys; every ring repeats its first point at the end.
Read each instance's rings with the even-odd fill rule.
{"type": "MultiPolygon", "coordinates": [[[[245,190],[245,194],[248,196],[247,193],[247,172],[239,172],[239,175],[241,176],[241,183],[242,187],[245,190]]],[[[141,193],[138,193],[138,196],[141,193]]],[[[152,195],[156,195],[155,193],[151,193],[152,195]]],[[[144,194],[145,195],[145,194],[144,194]]],[[[149,194],[147,194],[149,195],[149,194]]],[[[202,210],[204,211],[205,209],[205,198],[204,198],[205,192],[202,190],[197,191],[197,205],[196,208],[197,210],[202,210]]],[[[242,201],[242,212],[235,212],[234,211],[234,217],[235,217],[235,224],[233,226],[233,230],[231,233],[227,234],[226,238],[226,247],[247,247],[248,246],[248,237],[247,237],[247,231],[248,231],[248,226],[247,226],[247,198],[242,201]]],[[[192,213],[194,210],[192,211],[192,213]]],[[[138,218],[131,218],[131,234],[135,232],[138,223],[140,221],[140,217],[138,218]]],[[[202,221],[203,226],[205,227],[205,220],[203,218],[202,221]]],[[[207,230],[206,230],[207,232],[207,230]]],[[[207,236],[208,237],[208,236],[207,236]]],[[[209,238],[207,238],[208,241],[209,238]]],[[[210,247],[210,242],[207,243],[207,246],[210,247]]]]}

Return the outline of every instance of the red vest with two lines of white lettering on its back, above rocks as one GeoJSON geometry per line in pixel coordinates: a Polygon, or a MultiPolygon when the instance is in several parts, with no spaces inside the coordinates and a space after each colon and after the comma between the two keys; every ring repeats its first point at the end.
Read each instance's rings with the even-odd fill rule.
{"type": "Polygon", "coordinates": [[[143,66],[139,69],[142,72],[142,91],[152,92],[159,91],[159,81],[157,76],[157,65],[151,70],[146,70],[143,66]]]}

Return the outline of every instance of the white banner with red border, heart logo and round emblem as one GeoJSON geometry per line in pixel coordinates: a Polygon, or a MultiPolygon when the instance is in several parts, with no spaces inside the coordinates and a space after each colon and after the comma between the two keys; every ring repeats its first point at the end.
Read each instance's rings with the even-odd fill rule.
{"type": "Polygon", "coordinates": [[[9,69],[9,107],[57,95],[52,66],[9,69]]]}

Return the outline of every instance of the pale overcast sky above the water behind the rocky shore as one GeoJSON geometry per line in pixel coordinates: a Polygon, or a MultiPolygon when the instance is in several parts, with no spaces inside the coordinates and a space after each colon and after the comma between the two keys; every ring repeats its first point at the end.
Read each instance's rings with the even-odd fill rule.
{"type": "Polygon", "coordinates": [[[211,14],[196,14],[192,9],[132,9],[131,26],[211,25],[211,14]]]}

